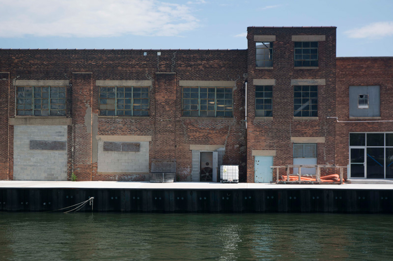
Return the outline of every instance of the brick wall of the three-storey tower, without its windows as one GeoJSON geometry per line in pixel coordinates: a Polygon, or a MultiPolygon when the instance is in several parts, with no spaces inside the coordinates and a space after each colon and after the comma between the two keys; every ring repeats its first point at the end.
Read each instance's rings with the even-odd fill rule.
{"type": "Polygon", "coordinates": [[[317,164],[335,164],[335,124],[326,117],[336,115],[336,28],[248,27],[247,39],[247,182],[254,182],[253,149],[276,150],[274,166],[293,164],[293,143],[290,137],[325,137],[325,143],[317,144],[317,164]],[[255,69],[254,35],[276,36],[273,43],[273,70],[255,69]],[[318,44],[319,69],[294,69],[292,35],[326,36],[326,41],[318,44]],[[276,79],[276,85],[273,86],[273,120],[255,119],[253,79],[276,79]],[[318,86],[318,120],[294,119],[291,79],[326,80],[326,85],[318,86]]]}

